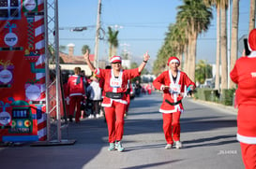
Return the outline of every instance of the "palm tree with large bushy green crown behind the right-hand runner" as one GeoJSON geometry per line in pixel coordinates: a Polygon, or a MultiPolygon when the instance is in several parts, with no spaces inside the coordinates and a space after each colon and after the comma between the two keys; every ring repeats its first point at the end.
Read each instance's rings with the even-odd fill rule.
{"type": "Polygon", "coordinates": [[[195,64],[196,64],[196,46],[197,37],[202,32],[208,30],[212,12],[210,7],[203,4],[203,0],[184,0],[184,5],[177,7],[178,14],[176,22],[187,23],[188,29],[188,76],[195,80],[195,64]]]}

